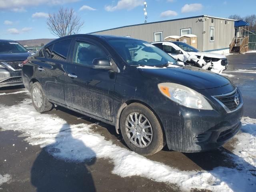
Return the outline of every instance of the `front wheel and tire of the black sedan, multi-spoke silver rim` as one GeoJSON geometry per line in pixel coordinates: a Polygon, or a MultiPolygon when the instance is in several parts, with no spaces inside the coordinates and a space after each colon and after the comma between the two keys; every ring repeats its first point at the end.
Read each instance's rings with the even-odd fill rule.
{"type": "Polygon", "coordinates": [[[132,151],[138,154],[150,156],[162,150],[162,148],[164,147],[165,139],[160,122],[156,118],[155,114],[148,107],[140,103],[132,103],[124,108],[120,117],[120,130],[126,145],[132,151]],[[136,114],[138,118],[137,122],[140,121],[140,123],[137,126],[132,126],[130,122],[133,123],[132,119],[134,120],[134,122],[136,122],[136,114]],[[130,115],[132,115],[132,118],[130,115]],[[145,120],[148,120],[148,122],[142,125],[142,122],[145,122],[145,120]],[[150,135],[150,132],[152,135],[150,135]],[[149,140],[146,139],[145,135],[143,134],[146,134],[146,137],[149,140]],[[140,138],[137,138],[136,136],[140,138]],[[146,144],[143,144],[141,138],[144,140],[144,142],[146,142],[146,144]],[[140,142],[139,140],[141,140],[142,142],[140,142]]]}

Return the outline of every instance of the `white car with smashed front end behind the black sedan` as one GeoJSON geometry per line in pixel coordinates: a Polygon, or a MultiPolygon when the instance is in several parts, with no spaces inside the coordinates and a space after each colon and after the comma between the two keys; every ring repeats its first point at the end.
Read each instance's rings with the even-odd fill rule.
{"type": "Polygon", "coordinates": [[[200,52],[193,46],[180,41],[152,42],[152,44],[178,60],[179,64],[183,62],[184,65],[192,65],[218,74],[228,68],[228,59],[222,54],[200,52]]]}

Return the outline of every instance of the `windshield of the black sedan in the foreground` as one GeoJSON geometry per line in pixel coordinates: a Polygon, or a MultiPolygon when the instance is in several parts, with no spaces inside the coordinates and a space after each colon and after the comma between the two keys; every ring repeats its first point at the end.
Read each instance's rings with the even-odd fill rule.
{"type": "Polygon", "coordinates": [[[176,60],[156,46],[134,39],[110,39],[110,45],[130,66],[162,66],[176,60]]]}

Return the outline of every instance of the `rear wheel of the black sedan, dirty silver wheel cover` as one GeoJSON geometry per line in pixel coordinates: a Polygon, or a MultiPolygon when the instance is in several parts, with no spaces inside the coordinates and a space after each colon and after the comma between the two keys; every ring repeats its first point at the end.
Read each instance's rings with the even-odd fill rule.
{"type": "Polygon", "coordinates": [[[32,99],[32,104],[34,108],[40,113],[50,111],[54,107],[54,104],[49,102],[48,99],[46,98],[44,90],[42,89],[42,86],[40,85],[39,82],[35,82],[32,85],[31,99],[32,99]],[[38,103],[38,101],[40,102],[38,103]]]}

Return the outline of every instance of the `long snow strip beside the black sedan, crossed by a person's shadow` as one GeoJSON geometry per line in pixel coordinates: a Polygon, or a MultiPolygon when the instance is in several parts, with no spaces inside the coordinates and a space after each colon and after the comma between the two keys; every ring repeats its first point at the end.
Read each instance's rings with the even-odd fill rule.
{"type": "MultiPolygon", "coordinates": [[[[148,160],[130,150],[116,146],[94,132],[91,125],[69,125],[63,119],[34,110],[31,100],[15,106],[0,105],[0,127],[18,130],[31,145],[46,146],[55,158],[84,161],[105,158],[114,164],[113,174],[142,176],[158,182],[176,184],[184,191],[191,188],[214,192],[256,191],[255,152],[256,120],[243,118],[242,133],[236,137],[239,145],[231,154],[237,168],[216,167],[211,171],[180,171],[148,160]]],[[[228,156],[229,154],[227,154],[228,156]]]]}

